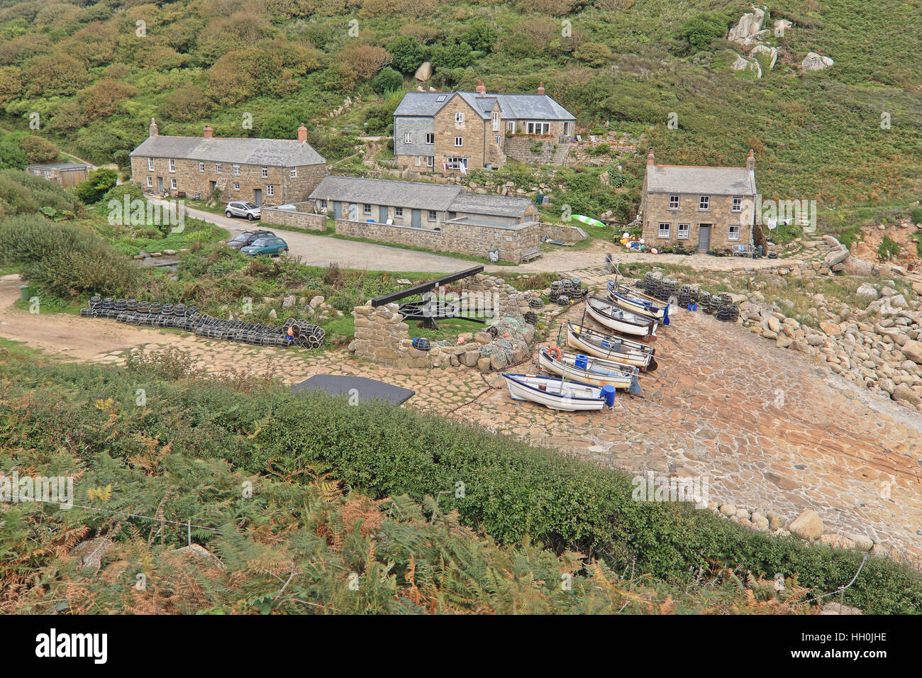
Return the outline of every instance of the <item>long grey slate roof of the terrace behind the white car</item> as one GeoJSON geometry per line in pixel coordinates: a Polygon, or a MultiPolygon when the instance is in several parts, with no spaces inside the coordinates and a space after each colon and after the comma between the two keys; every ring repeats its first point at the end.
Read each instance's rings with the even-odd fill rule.
{"type": "Polygon", "coordinates": [[[301,167],[325,162],[307,143],[297,139],[251,139],[215,137],[146,138],[131,151],[133,156],[176,158],[193,161],[231,162],[267,167],[301,167]]]}

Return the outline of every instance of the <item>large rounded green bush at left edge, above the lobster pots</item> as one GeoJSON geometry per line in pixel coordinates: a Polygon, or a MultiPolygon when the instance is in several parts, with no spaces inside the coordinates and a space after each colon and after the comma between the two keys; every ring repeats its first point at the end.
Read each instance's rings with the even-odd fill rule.
{"type": "Polygon", "coordinates": [[[23,264],[23,280],[58,299],[84,292],[136,292],[137,268],[99,235],[74,224],[26,215],[0,223],[0,261],[23,264]]]}

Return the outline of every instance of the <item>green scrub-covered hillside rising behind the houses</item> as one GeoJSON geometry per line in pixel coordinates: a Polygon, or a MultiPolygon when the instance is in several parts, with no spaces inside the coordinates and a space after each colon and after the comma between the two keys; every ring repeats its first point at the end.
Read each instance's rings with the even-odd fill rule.
{"type": "MultiPolygon", "coordinates": [[[[714,39],[751,11],[745,2],[3,5],[3,125],[25,129],[38,113],[42,136],[90,161],[124,165],[151,116],[161,134],[199,134],[207,121],[216,135],[290,137],[304,121],[312,143],[337,160],[362,129],[386,131],[376,127],[389,106],[374,92],[398,82],[387,69],[413,88],[427,59],[436,88],[473,89],[480,78],[491,90],[533,91],[543,81],[584,130],[643,134],[661,162],[739,165],[756,149],[764,196],[816,199],[838,210],[827,214],[833,225],[843,208],[902,206],[922,194],[922,34],[906,30],[919,0],[774,3],[766,25],[786,18],[793,27],[770,35],[780,54],[762,79],[732,71],[736,45],[714,39]],[[703,13],[717,32],[701,30],[703,13]],[[835,64],[802,73],[810,51],[835,64]],[[329,117],[346,97],[357,105],[329,117]]],[[[639,176],[642,159],[627,169],[639,176]]]]}

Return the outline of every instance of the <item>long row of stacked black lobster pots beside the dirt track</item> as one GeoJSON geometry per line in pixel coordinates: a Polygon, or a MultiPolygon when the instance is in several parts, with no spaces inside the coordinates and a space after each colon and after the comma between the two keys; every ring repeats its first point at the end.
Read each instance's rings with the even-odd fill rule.
{"type": "Polygon", "coordinates": [[[323,327],[311,325],[306,320],[290,317],[281,326],[274,327],[247,323],[242,320],[223,320],[198,313],[195,306],[183,303],[145,302],[136,299],[112,299],[93,296],[88,308],[80,309],[81,317],[112,318],[120,323],[147,327],[172,327],[194,332],[196,337],[239,341],[254,346],[290,346],[319,349],[324,345],[323,327]]]}

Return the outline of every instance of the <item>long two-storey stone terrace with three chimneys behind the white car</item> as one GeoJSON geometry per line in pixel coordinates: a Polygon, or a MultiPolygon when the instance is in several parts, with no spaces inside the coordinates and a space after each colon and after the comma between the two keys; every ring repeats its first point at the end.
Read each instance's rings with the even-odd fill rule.
{"type": "Polygon", "coordinates": [[[307,143],[307,128],[294,139],[161,137],[150,134],[131,152],[131,179],[148,192],[280,205],[306,200],[327,172],[326,161],[307,143]]]}

